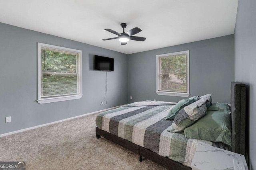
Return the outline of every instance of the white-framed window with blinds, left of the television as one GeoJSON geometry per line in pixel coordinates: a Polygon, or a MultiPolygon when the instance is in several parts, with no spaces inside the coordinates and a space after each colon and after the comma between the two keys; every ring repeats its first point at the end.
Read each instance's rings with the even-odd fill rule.
{"type": "Polygon", "coordinates": [[[82,51],[38,43],[38,103],[82,98],[82,51]]]}

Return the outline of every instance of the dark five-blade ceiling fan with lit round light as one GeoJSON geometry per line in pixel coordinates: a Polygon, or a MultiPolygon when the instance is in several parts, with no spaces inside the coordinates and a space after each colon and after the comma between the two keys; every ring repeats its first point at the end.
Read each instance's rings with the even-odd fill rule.
{"type": "Polygon", "coordinates": [[[120,24],[121,27],[123,28],[123,32],[122,33],[118,33],[112,29],[108,29],[106,28],[105,30],[108,31],[108,32],[111,32],[113,34],[116,34],[118,35],[118,37],[114,37],[114,38],[107,38],[107,39],[102,39],[103,41],[106,41],[106,40],[110,40],[110,39],[118,39],[120,42],[121,42],[121,45],[126,45],[127,42],[130,40],[135,40],[135,41],[145,41],[146,38],[144,37],[136,37],[136,36],[132,36],[132,35],[135,35],[136,33],[139,33],[141,31],[140,28],[138,27],[135,27],[133,29],[131,29],[130,31],[127,31],[126,33],[124,32],[124,29],[126,28],[127,26],[127,23],[121,23],[120,24]]]}

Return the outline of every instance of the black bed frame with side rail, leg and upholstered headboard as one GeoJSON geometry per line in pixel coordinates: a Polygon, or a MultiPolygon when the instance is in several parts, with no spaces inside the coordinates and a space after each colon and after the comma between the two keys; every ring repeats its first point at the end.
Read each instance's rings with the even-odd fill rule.
{"type": "MultiPolygon", "coordinates": [[[[239,82],[231,83],[231,117],[232,117],[232,151],[245,154],[245,97],[246,97],[246,86],[239,82]]],[[[116,135],[103,131],[96,127],[96,137],[104,137],[114,143],[121,145],[122,147],[131,150],[139,155],[139,160],[142,162],[142,157],[152,160],[157,164],[167,169],[172,170],[191,170],[192,168],[184,166],[179,162],[171,160],[167,157],[160,156],[159,154],[136,145],[130,141],[122,139],[116,135]]]]}

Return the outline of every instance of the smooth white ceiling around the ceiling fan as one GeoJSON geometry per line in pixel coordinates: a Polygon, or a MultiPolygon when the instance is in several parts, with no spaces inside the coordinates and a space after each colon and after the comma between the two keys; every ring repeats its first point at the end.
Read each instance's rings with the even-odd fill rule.
{"type": "Polygon", "coordinates": [[[131,54],[234,33],[238,0],[1,0],[0,22],[131,54]],[[120,45],[105,31],[139,27],[120,45]]]}

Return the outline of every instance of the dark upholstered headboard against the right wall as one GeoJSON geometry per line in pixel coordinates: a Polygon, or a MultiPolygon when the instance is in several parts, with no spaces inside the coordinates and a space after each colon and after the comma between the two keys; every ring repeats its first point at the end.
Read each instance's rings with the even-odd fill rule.
{"type": "Polygon", "coordinates": [[[231,82],[232,151],[245,154],[246,85],[231,82]]]}

